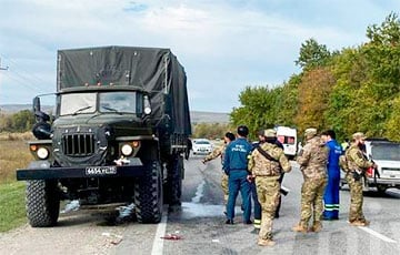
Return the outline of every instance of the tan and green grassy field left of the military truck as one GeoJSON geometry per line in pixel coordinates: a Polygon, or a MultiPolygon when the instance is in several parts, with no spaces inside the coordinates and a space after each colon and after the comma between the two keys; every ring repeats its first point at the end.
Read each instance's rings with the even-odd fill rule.
{"type": "Polygon", "coordinates": [[[27,140],[30,134],[0,134],[0,232],[27,222],[24,182],[16,181],[16,170],[32,160],[27,140]]]}

